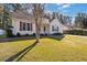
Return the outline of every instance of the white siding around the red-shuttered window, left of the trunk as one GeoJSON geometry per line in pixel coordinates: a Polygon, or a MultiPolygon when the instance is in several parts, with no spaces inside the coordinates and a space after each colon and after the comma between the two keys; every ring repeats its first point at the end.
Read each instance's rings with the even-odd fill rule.
{"type": "Polygon", "coordinates": [[[24,35],[24,34],[33,34],[34,33],[34,24],[32,23],[31,25],[33,26],[31,26],[31,30],[30,31],[28,31],[26,30],[26,26],[25,26],[25,30],[22,30],[22,26],[20,25],[20,22],[24,22],[25,24],[26,23],[32,23],[30,20],[23,20],[23,19],[17,19],[17,18],[13,18],[12,19],[12,26],[13,26],[13,29],[12,29],[12,33],[14,34],[14,35],[17,35],[18,33],[20,33],[21,35],[24,35]]]}

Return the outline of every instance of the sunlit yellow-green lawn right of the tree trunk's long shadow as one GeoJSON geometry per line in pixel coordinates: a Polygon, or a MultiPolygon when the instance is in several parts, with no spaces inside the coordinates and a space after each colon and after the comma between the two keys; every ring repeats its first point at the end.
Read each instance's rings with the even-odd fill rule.
{"type": "Polygon", "coordinates": [[[66,35],[59,41],[41,39],[41,42],[20,61],[87,61],[87,39],[72,35],[66,35]]]}

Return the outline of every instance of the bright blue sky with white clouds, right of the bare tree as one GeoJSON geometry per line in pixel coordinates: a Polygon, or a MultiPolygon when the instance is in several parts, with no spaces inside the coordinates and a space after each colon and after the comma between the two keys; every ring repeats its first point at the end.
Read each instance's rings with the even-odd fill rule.
{"type": "Polygon", "coordinates": [[[46,12],[62,12],[74,19],[78,12],[87,13],[87,3],[48,3],[45,10],[46,12]]]}

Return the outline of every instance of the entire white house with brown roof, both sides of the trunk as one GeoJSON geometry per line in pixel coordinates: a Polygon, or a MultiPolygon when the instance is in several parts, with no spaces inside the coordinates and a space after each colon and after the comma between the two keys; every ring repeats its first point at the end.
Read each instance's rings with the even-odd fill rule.
{"type": "MultiPolygon", "coordinates": [[[[13,12],[12,17],[12,33],[17,35],[20,33],[24,34],[33,34],[35,33],[35,22],[32,17],[26,15],[22,12],[13,12]]],[[[65,29],[68,29],[64,24],[59,22],[57,18],[50,21],[47,18],[42,19],[41,23],[41,34],[54,34],[54,33],[63,33],[65,29]]]]}

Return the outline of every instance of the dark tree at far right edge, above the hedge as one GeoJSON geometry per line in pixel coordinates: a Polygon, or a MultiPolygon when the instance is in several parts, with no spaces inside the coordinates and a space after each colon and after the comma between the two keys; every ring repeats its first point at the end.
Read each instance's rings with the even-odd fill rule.
{"type": "Polygon", "coordinates": [[[79,12],[75,17],[75,28],[87,29],[87,14],[79,12]]]}

